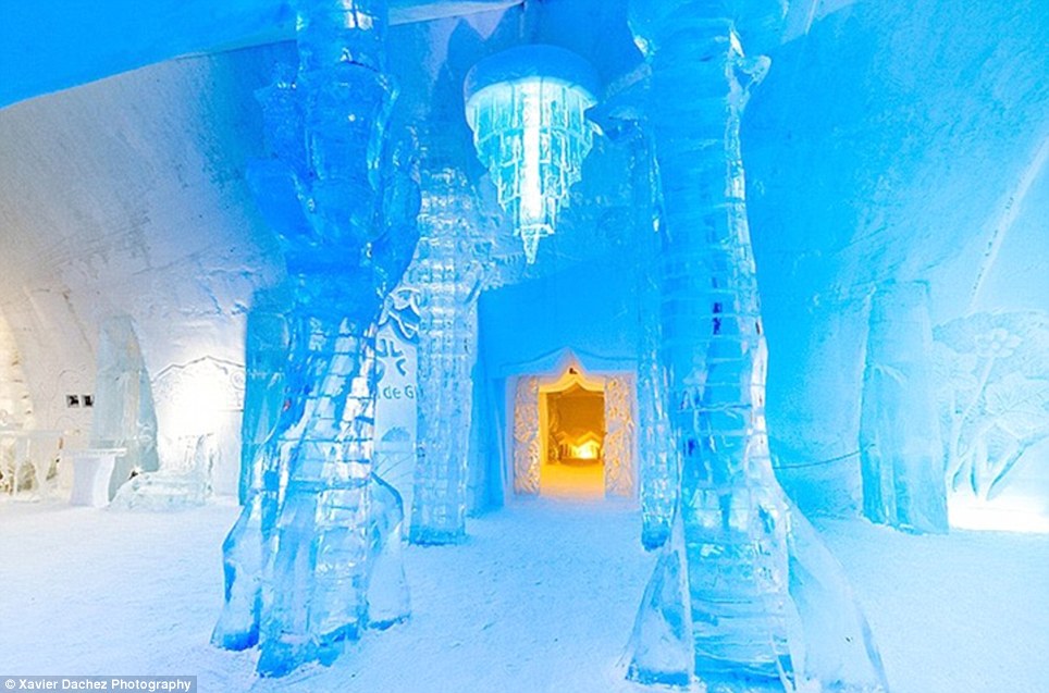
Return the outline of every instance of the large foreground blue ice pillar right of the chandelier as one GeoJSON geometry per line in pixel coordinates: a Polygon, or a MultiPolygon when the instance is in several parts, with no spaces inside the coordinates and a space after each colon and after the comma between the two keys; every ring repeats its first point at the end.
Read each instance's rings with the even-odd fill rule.
{"type": "Polygon", "coordinates": [[[628,676],[695,678],[735,693],[795,691],[810,678],[828,679],[827,691],[879,691],[877,677],[805,667],[805,619],[790,592],[791,512],[765,430],[767,352],[739,144],[748,89],[768,63],[744,57],[726,14],[720,3],[689,0],[630,5],[651,67],[651,92],[639,98],[663,181],[662,357],[681,480],[628,676]]]}

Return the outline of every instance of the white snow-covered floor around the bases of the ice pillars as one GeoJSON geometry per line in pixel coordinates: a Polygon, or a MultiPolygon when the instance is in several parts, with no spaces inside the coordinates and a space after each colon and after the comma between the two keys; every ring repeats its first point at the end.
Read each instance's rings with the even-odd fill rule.
{"type": "MultiPolygon", "coordinates": [[[[173,515],[0,500],[0,677],[197,675],[205,693],[643,691],[618,664],[654,557],[637,510],[540,499],[408,547],[414,614],[331,668],[257,679],[208,644],[232,505],[173,515]]],[[[1049,536],[822,521],[893,693],[1049,691],[1049,536]]]]}

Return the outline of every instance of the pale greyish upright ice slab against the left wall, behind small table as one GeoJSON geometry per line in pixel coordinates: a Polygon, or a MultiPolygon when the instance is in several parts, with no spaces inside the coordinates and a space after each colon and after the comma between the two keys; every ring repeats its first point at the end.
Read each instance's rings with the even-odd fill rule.
{"type": "Polygon", "coordinates": [[[160,468],[152,388],[129,315],[102,321],[97,359],[90,444],[125,450],[110,479],[109,496],[113,498],[132,473],[160,468]]]}

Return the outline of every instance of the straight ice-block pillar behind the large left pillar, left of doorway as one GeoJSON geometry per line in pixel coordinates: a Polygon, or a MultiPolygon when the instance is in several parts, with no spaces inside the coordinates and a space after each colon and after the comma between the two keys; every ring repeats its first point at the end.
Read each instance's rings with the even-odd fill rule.
{"type": "Polygon", "coordinates": [[[452,165],[428,158],[422,172],[419,246],[408,282],[419,289],[418,418],[409,539],[466,539],[471,373],[477,359],[473,191],[452,165]]]}

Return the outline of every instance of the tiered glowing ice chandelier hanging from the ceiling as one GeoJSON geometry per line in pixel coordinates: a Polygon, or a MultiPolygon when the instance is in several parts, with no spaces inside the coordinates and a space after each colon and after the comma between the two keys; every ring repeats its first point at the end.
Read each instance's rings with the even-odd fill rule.
{"type": "Polygon", "coordinates": [[[511,48],[467,75],[466,117],[478,157],[514,218],[529,263],[582,177],[593,145],[584,113],[596,102],[596,87],[587,61],[554,46],[511,48]]]}

